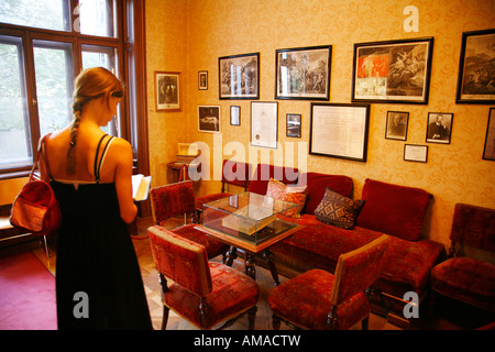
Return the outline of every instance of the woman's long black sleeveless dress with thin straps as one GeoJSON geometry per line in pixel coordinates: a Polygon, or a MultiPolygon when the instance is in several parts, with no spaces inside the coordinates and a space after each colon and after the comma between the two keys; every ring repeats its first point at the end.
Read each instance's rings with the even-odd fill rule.
{"type": "MultiPolygon", "coordinates": [[[[143,280],[114,184],[52,180],[61,204],[56,299],[58,329],[152,329],[143,280]]],[[[98,162],[99,160],[99,162],[98,162]]],[[[97,163],[98,162],[98,163],[97,163]]]]}

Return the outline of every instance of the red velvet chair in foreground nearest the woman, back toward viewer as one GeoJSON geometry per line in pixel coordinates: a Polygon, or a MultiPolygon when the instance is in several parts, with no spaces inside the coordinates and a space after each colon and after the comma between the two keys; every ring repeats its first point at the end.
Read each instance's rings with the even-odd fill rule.
{"type": "Polygon", "coordinates": [[[229,327],[244,312],[254,329],[260,289],[245,274],[224,264],[209,263],[205,246],[158,226],[148,229],[151,249],[162,284],[166,329],[169,309],[196,327],[229,327]],[[167,286],[166,278],[174,283],[167,286]]]}

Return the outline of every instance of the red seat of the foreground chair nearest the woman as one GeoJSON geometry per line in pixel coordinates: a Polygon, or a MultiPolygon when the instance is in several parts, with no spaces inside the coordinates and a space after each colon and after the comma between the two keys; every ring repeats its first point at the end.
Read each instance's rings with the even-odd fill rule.
{"type": "MultiPolygon", "coordinates": [[[[260,298],[260,289],[251,277],[223,264],[209,263],[209,266],[212,290],[206,296],[209,321],[204,329],[210,329],[221,321],[238,316],[240,311],[255,306],[260,298]]],[[[163,302],[186,320],[201,326],[198,295],[172,284],[164,295],[163,302]]]]}

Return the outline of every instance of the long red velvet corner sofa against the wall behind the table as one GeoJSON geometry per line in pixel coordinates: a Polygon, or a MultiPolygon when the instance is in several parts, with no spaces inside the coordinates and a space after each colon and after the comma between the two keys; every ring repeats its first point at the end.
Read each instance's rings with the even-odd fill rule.
{"type": "MultiPolygon", "coordinates": [[[[366,179],[363,186],[364,205],[355,226],[350,229],[324,223],[315,211],[326,195],[326,189],[351,199],[353,182],[348,176],[307,173],[301,175],[307,184],[305,207],[298,219],[305,227],[290,238],[274,245],[271,251],[278,271],[294,276],[311,268],[334,272],[342,253],[356,250],[383,233],[391,235],[385,270],[374,285],[382,293],[375,300],[383,312],[391,310],[402,315],[404,294],[415,292],[422,299],[427,293],[431,268],[444,254],[441,243],[421,238],[424,219],[432,196],[427,191],[366,179]]],[[[266,179],[264,183],[268,183],[266,179]]],[[[251,180],[250,190],[260,187],[251,180]]],[[[301,183],[299,183],[299,186],[301,183]]]]}

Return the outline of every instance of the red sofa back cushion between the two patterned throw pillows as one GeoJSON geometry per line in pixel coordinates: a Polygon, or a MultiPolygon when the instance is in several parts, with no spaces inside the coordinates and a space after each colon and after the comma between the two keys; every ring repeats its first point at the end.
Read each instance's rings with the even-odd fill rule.
{"type": "Polygon", "coordinates": [[[300,178],[299,185],[308,185],[308,198],[304,210],[306,213],[315,213],[315,209],[321,202],[327,188],[351,198],[353,183],[349,176],[306,173],[300,178]]]}

